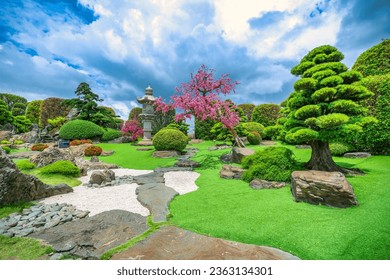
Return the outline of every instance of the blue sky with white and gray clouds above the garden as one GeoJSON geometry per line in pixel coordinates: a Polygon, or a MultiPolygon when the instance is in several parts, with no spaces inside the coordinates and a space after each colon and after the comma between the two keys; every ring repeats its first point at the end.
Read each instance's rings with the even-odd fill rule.
{"type": "Polygon", "coordinates": [[[127,117],[150,82],[167,99],[202,64],[236,103],[280,103],[292,66],[330,44],[351,67],[390,37],[390,0],[1,0],[0,92],[75,97],[81,82],[127,117]]]}

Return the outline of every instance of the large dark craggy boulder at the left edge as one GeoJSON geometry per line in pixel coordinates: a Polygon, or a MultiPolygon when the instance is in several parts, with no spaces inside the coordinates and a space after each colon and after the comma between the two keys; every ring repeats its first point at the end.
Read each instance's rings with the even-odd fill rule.
{"type": "Polygon", "coordinates": [[[73,189],[66,184],[50,186],[32,175],[23,174],[0,150],[0,206],[68,192],[73,189]]]}

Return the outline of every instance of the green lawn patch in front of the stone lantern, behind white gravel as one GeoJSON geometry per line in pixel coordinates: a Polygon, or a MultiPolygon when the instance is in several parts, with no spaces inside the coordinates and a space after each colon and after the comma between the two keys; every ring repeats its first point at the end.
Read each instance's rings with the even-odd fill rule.
{"type": "Polygon", "coordinates": [[[123,144],[107,144],[101,143],[97,146],[103,150],[113,150],[115,153],[111,156],[102,157],[99,159],[103,162],[114,163],[120,167],[137,169],[137,170],[153,170],[157,167],[172,166],[175,158],[154,158],[151,151],[137,151],[141,146],[133,146],[130,143],[123,144]]]}

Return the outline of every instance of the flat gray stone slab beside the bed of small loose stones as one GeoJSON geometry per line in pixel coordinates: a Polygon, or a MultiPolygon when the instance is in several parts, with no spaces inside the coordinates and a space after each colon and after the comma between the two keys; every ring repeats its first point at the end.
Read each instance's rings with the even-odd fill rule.
{"type": "Polygon", "coordinates": [[[145,217],[128,211],[111,210],[35,232],[29,237],[43,240],[58,253],[82,259],[99,259],[105,251],[147,229],[145,217]]]}

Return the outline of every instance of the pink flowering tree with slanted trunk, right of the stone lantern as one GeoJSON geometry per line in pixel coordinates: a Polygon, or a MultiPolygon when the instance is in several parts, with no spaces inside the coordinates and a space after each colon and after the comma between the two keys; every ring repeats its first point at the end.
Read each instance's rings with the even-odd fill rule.
{"type": "Polygon", "coordinates": [[[238,82],[232,81],[227,74],[215,79],[214,70],[202,65],[195,75],[191,74],[188,83],[182,83],[176,88],[176,94],[169,103],[164,103],[161,97],[158,98],[155,102],[156,110],[165,113],[179,109],[181,113],[175,116],[176,121],[191,119],[192,116],[201,121],[206,119],[219,121],[232,133],[237,145],[245,147],[234,129],[240,121],[234,110],[235,106],[221,99],[221,95],[226,96],[235,92],[237,84],[238,82]]]}

